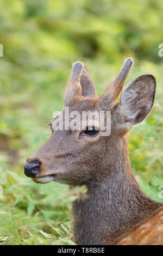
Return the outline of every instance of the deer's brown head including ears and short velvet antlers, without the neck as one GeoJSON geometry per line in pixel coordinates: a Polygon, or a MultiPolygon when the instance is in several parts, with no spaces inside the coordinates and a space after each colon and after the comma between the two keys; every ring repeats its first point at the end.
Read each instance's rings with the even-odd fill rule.
{"type": "MultiPolygon", "coordinates": [[[[133,59],[128,58],[114,81],[98,97],[86,67],[81,62],[73,65],[65,90],[65,106],[51,122],[52,135],[24,164],[24,173],[35,182],[52,180],[69,185],[85,184],[102,178],[108,165],[116,163],[116,154],[123,148],[123,139],[130,127],[144,120],[153,106],[155,78],[144,75],[126,86],[119,103],[115,103],[129,74],[133,59]],[[66,109],[69,114],[78,112],[76,128],[68,129],[66,109]],[[103,136],[102,119],[83,120],[83,112],[104,113],[107,123],[111,115],[111,133],[103,136]],[[62,119],[62,129],[55,129],[62,119]]],[[[99,117],[98,115],[98,117],[99,117]]],[[[69,121],[73,121],[70,114],[69,121]]],[[[107,175],[109,175],[108,173],[107,175]]]]}

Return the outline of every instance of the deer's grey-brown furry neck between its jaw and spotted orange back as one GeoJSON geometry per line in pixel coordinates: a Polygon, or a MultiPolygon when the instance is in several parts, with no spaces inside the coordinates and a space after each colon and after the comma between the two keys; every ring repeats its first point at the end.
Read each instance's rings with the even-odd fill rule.
{"type": "Polygon", "coordinates": [[[102,180],[87,182],[87,197],[73,203],[74,241],[78,245],[114,244],[160,206],[137,184],[125,141],[122,148],[118,164],[105,167],[102,180]]]}

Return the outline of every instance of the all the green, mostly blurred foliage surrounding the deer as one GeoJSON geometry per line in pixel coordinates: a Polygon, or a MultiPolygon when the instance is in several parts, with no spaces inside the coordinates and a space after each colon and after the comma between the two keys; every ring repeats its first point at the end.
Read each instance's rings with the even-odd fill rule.
{"type": "MultiPolygon", "coordinates": [[[[149,117],[130,132],[131,167],[153,199],[163,185],[163,5],[161,0],[0,1],[0,245],[73,244],[67,186],[34,184],[23,163],[46,141],[61,110],[72,63],[89,68],[97,93],[134,57],[128,81],[156,77],[149,117]]],[[[127,81],[127,82],[128,82],[127,81]]]]}

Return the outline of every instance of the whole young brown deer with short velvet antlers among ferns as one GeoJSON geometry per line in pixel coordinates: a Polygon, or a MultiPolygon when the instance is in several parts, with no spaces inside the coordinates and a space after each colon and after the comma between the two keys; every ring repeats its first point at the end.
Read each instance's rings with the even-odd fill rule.
{"type": "MultiPolygon", "coordinates": [[[[53,130],[42,147],[24,164],[24,173],[38,183],[52,180],[87,187],[87,196],[72,206],[74,242],[78,245],[162,245],[163,204],[141,190],[130,167],[127,133],[152,109],[155,78],[143,75],[130,82],[115,103],[133,59],[125,60],[115,80],[98,97],[81,63],[73,65],[65,90],[71,111],[110,111],[111,133],[53,130]]],[[[64,114],[65,109],[62,110],[64,114]]]]}

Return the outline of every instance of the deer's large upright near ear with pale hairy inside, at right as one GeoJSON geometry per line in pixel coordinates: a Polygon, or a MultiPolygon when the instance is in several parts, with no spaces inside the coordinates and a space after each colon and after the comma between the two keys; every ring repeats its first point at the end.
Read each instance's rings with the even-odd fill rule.
{"type": "Polygon", "coordinates": [[[122,91],[118,112],[124,127],[141,123],[151,111],[155,96],[155,77],[143,75],[130,82],[122,91]]]}

